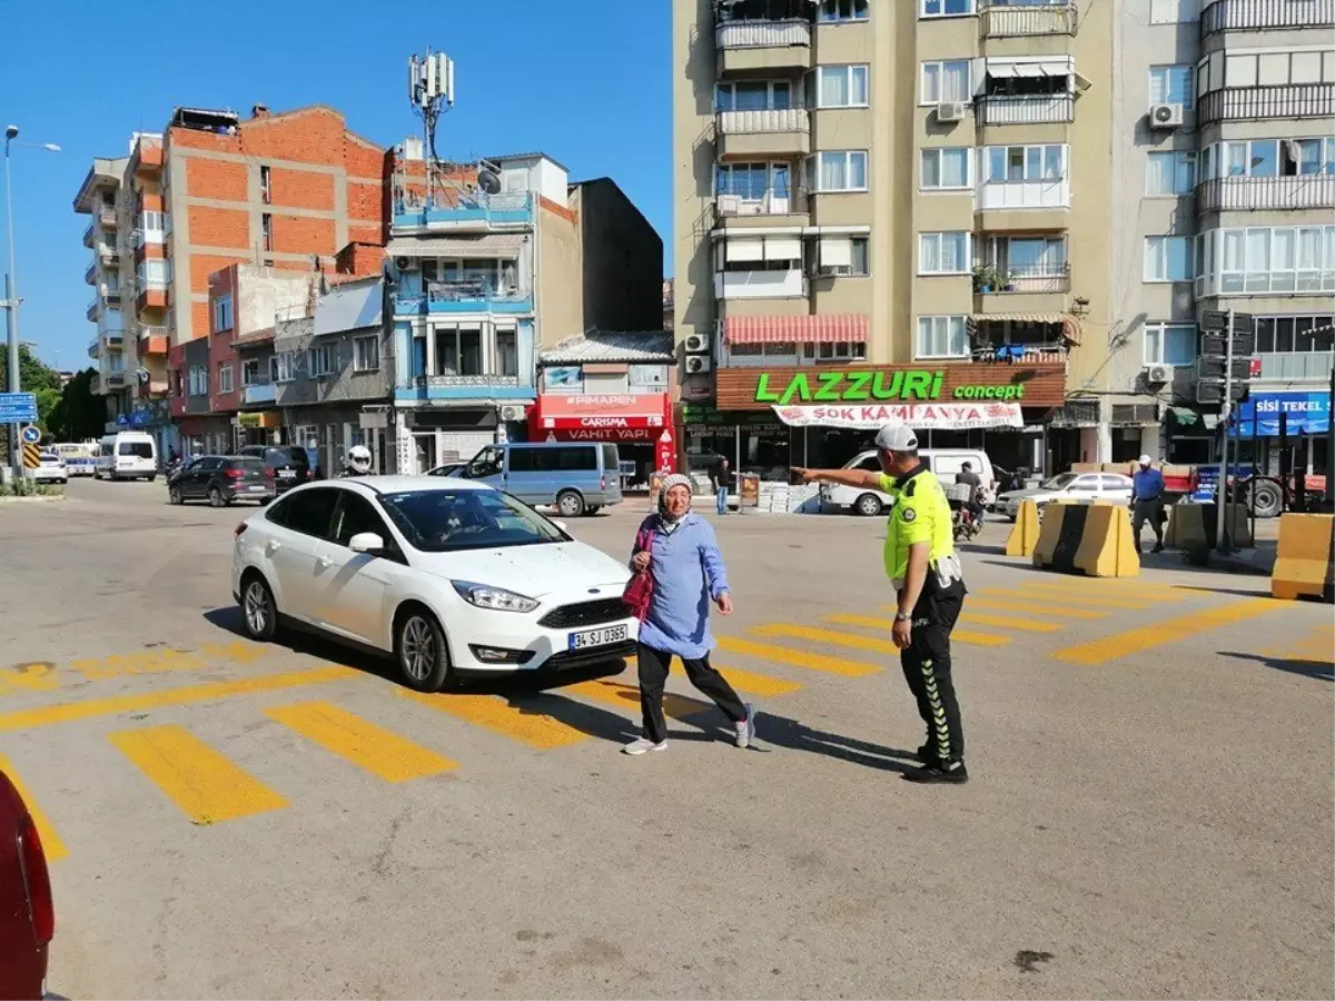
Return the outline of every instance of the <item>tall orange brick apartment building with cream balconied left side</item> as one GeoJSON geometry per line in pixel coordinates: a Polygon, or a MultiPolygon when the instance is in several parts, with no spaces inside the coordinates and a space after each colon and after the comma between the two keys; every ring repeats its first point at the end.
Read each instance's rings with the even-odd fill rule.
{"type": "MultiPolygon", "coordinates": [[[[155,428],[163,454],[179,444],[167,399],[190,410],[208,391],[168,380],[168,350],[210,335],[210,275],[239,263],[334,271],[348,244],[383,246],[386,170],[386,151],[324,105],[256,104],[248,119],[176,108],[160,136],[132,139],[128,159],[96,160],[75,210],[96,215],[85,243],[99,260],[116,236],[119,350],[99,326],[109,423],[155,428]]],[[[379,270],[371,255],[356,260],[379,270]]],[[[100,324],[112,322],[111,304],[99,307],[100,324]]]]}

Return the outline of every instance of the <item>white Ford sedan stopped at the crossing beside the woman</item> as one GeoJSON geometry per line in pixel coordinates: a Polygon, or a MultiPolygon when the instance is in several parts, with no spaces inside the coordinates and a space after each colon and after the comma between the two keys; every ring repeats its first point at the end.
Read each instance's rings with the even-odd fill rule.
{"type": "Polygon", "coordinates": [[[296,487],[236,527],[232,553],[250,637],[315,629],[391,654],[418,691],[631,655],[629,579],[509,494],[439,476],[296,487]]]}

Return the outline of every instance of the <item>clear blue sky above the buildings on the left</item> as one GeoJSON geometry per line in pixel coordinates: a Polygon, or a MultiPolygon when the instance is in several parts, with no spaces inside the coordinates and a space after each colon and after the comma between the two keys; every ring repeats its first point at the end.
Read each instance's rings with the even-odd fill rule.
{"type": "MultiPolygon", "coordinates": [[[[331,104],[355,132],[391,145],[421,133],[407,104],[406,67],[427,45],[455,61],[458,99],[442,119],[442,156],[542,149],[570,168],[571,180],[613,178],[669,240],[666,3],[5,7],[0,119],[20,128],[20,140],[63,147],[12,155],[20,336],[61,368],[89,363],[95,332],[84,316],[92,298],[83,278],[88,216],[71,210],[93,156],[124,156],[132,131],[162,131],[179,104],[239,113],[256,101],[274,111],[331,104]],[[487,9],[497,16],[486,17],[487,9]]],[[[8,262],[8,250],[0,251],[8,262]]]]}

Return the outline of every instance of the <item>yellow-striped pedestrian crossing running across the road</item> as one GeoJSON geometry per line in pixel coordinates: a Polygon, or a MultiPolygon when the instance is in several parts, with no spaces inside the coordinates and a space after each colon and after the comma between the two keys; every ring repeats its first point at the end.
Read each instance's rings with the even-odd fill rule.
{"type": "MultiPolygon", "coordinates": [[[[1057,665],[1093,666],[1137,653],[1168,646],[1211,629],[1235,625],[1287,607],[1266,598],[1234,598],[1192,589],[1144,581],[1095,581],[1063,578],[1019,581],[1011,587],[980,589],[971,594],[953,631],[961,646],[997,649],[1016,646],[1028,657],[1037,645],[1040,655],[1057,665]],[[1183,605],[1189,606],[1183,610],[1183,605]],[[1144,613],[1127,615],[1125,613],[1144,613]],[[1167,614],[1165,614],[1167,613],[1167,614]],[[1129,621],[1131,629],[1127,627],[1129,621]],[[1061,646],[1063,643],[1069,643],[1061,646]]],[[[722,625],[722,623],[720,623],[722,625]]],[[[897,669],[897,649],[890,637],[893,606],[873,606],[865,611],[836,611],[812,622],[760,622],[718,637],[717,667],[744,695],[764,699],[762,709],[780,709],[782,699],[800,697],[814,679],[822,683],[856,683],[860,679],[897,669]],[[744,666],[738,666],[738,662],[744,666]],[[778,705],[776,705],[776,702],[778,705]]],[[[680,665],[674,667],[682,681],[680,665]]],[[[619,718],[619,733],[638,730],[639,691],[627,675],[578,681],[546,691],[517,694],[477,694],[474,691],[421,694],[403,687],[386,705],[405,710],[405,730],[418,739],[382,726],[339,703],[339,693],[351,685],[380,685],[367,675],[339,665],[286,670],[202,685],[187,685],[104,699],[45,705],[0,713],[0,737],[5,733],[59,725],[75,725],[96,718],[112,718],[116,729],[103,738],[116,751],[112,761],[129,767],[139,789],[171,803],[190,823],[211,826],[244,822],[292,807],[303,797],[300,787],[287,787],[272,773],[263,781],[232,759],[234,742],[204,739],[190,725],[124,725],[135,713],[164,706],[190,707],[220,699],[248,697],[250,723],[267,719],[292,738],[294,747],[327,754],[348,774],[400,785],[431,782],[453,773],[465,773],[469,754],[457,747],[458,730],[485,731],[531,753],[562,753],[594,738],[613,739],[610,723],[590,722],[590,714],[610,710],[619,718]],[[326,698],[303,698],[303,689],[319,686],[326,698]],[[433,722],[435,721],[435,722],[433,722]],[[442,725],[443,721],[443,725],[442,725]],[[422,723],[426,722],[426,726],[422,723]],[[427,738],[422,738],[429,734],[427,738]],[[447,753],[459,758],[447,757],[447,753]]],[[[680,687],[680,685],[678,685],[680,687]]],[[[362,707],[362,702],[358,707],[362,707]]],[[[678,721],[712,726],[717,714],[701,698],[669,691],[665,711],[678,721]]],[[[236,726],[248,725],[228,719],[236,726]]],[[[390,718],[395,718],[391,711],[390,718]]],[[[211,717],[216,718],[216,713],[211,717]]],[[[721,721],[717,721],[721,725],[721,721]]],[[[392,723],[391,723],[392,726],[392,723]]],[[[239,738],[243,741],[243,738],[239,738]]],[[[483,741],[486,743],[486,741],[483,741]]],[[[240,757],[238,754],[238,757],[240,757]]],[[[0,757],[0,767],[11,777],[11,761],[0,757]]],[[[282,774],[282,773],[279,773],[282,774]]],[[[32,793],[23,787],[32,803],[32,793]]],[[[69,852],[59,831],[59,817],[35,810],[39,831],[52,860],[69,852]]]]}

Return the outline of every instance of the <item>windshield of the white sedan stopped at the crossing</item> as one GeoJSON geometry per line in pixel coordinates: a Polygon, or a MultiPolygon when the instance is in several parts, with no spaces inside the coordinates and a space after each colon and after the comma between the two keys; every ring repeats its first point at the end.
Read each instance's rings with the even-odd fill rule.
{"type": "Polygon", "coordinates": [[[454,553],[569,542],[531,507],[498,490],[413,490],[380,498],[414,549],[454,553]]]}

